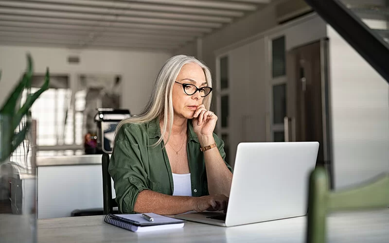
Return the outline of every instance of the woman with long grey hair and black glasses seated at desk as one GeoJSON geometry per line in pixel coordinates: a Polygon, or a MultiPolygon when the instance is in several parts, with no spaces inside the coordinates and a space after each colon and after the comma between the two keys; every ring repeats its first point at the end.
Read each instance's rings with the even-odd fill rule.
{"type": "Polygon", "coordinates": [[[227,208],[232,169],[224,161],[224,142],[213,133],[211,82],[202,62],[174,56],[160,70],[141,115],[118,124],[108,170],[120,212],[227,208]]]}

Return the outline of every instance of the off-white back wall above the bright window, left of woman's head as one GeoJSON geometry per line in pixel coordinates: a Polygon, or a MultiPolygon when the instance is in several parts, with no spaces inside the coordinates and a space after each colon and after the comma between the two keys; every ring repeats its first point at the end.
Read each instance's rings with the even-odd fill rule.
{"type": "Polygon", "coordinates": [[[70,74],[75,82],[79,73],[121,74],[123,80],[122,106],[137,114],[148,101],[155,78],[163,63],[171,56],[164,52],[136,51],[76,51],[65,48],[0,46],[0,104],[13,89],[26,69],[26,53],[30,52],[35,73],[70,74]],[[69,64],[69,55],[78,55],[80,63],[69,64]]]}

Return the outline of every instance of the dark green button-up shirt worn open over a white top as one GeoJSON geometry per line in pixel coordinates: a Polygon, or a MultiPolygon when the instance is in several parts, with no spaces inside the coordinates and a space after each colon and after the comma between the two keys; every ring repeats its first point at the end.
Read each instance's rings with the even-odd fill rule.
{"type": "MultiPolygon", "coordinates": [[[[200,143],[188,120],[187,154],[191,172],[192,196],[209,195],[207,174],[200,143]]],[[[115,137],[108,171],[114,181],[116,202],[122,213],[134,213],[134,205],[139,192],[157,191],[173,195],[173,175],[169,158],[163,148],[163,141],[155,144],[160,138],[159,120],[146,123],[126,123],[115,137]]],[[[213,138],[223,160],[226,157],[224,142],[216,134],[213,138]]],[[[224,160],[226,163],[226,161],[224,160]]],[[[226,163],[232,172],[230,165],[226,163]]]]}

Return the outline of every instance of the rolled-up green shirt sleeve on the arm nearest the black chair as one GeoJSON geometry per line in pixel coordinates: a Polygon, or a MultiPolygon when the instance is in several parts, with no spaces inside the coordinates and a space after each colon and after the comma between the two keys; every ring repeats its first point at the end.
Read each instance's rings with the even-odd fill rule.
{"type": "Polygon", "coordinates": [[[139,192],[147,189],[147,174],[139,145],[126,129],[120,129],[115,138],[108,172],[114,181],[116,202],[122,213],[134,213],[139,192]]]}

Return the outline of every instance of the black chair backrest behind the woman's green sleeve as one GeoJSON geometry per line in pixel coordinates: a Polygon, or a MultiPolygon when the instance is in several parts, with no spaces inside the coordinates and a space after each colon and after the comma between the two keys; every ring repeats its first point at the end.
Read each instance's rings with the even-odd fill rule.
{"type": "Polygon", "coordinates": [[[112,184],[111,175],[108,173],[109,155],[102,155],[102,171],[103,171],[103,210],[104,214],[112,213],[114,207],[118,207],[115,199],[112,199],[112,184]]]}

